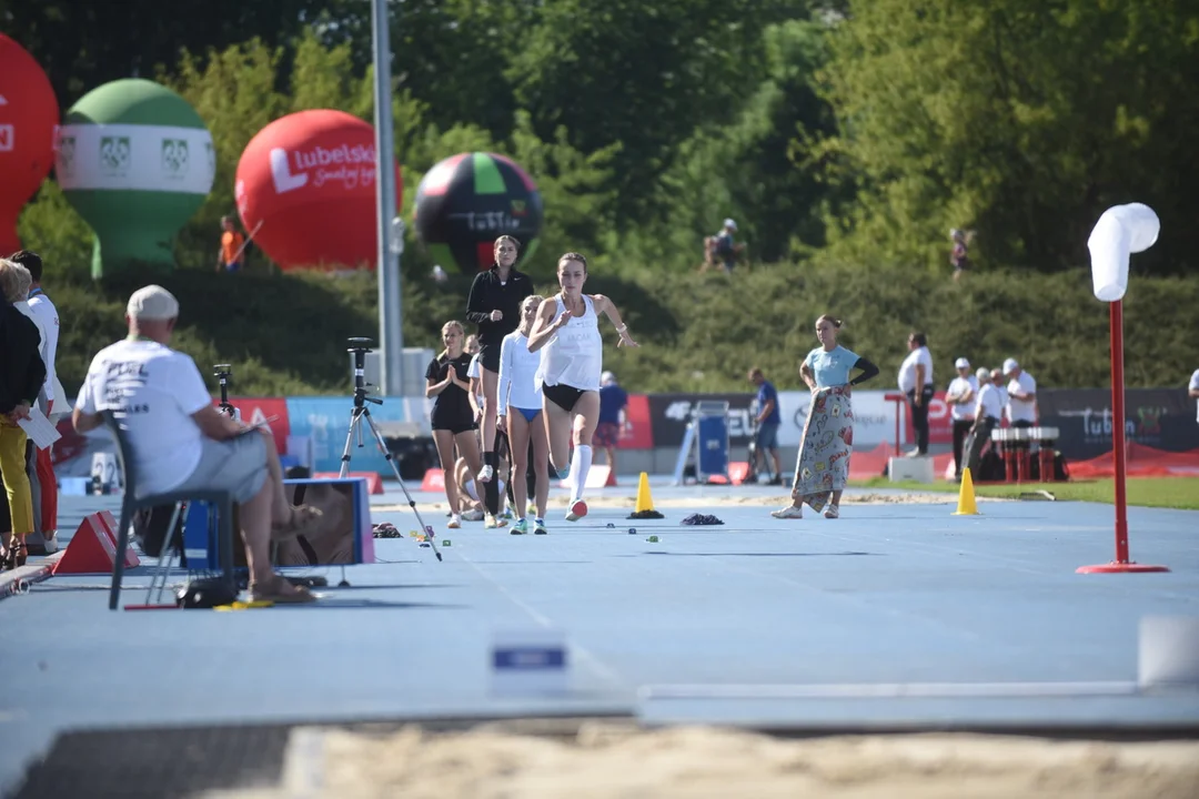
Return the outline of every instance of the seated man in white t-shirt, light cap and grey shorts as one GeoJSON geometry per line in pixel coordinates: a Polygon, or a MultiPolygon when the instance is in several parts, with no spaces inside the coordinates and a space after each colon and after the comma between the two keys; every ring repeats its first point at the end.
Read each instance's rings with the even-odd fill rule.
{"type": "Polygon", "coordinates": [[[311,603],[314,597],[271,569],[271,539],[287,540],[319,522],[293,507],[269,429],[251,430],[216,410],[195,362],[167,346],[179,302],[161,286],[138,289],[126,311],[129,335],[96,353],[76,400],[79,432],[113,411],[126,431],[141,496],[228,490],[241,506],[241,535],[254,600],[311,603]]]}

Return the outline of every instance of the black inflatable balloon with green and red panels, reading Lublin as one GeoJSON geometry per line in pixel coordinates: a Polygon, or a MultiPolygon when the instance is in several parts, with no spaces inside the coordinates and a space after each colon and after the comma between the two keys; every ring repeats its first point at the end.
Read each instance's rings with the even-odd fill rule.
{"type": "Polygon", "coordinates": [[[416,188],[416,235],[433,260],[474,274],[494,261],[505,234],[520,242],[520,259],[537,249],[541,192],[525,170],[494,152],[462,152],[433,167],[416,188]]]}

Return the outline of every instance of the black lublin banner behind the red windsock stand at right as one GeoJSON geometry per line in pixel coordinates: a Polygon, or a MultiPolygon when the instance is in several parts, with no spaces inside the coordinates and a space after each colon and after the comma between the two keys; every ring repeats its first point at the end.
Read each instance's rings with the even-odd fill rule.
{"type": "MultiPolygon", "coordinates": [[[[1058,448],[1070,460],[1111,450],[1111,392],[1105,388],[1048,389],[1038,393],[1041,424],[1061,431],[1058,448]]],[[[1125,392],[1125,435],[1167,452],[1199,448],[1199,424],[1181,388],[1129,388],[1125,392]]]]}

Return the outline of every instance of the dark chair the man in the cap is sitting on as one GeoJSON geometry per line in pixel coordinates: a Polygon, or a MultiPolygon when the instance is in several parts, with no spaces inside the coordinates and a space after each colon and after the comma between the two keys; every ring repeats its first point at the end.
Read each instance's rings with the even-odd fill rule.
{"type": "MultiPolygon", "coordinates": [[[[179,522],[180,504],[182,502],[209,502],[217,508],[219,519],[219,534],[217,537],[218,563],[224,579],[233,583],[236,593],[233,561],[233,495],[229,491],[193,490],[167,491],[164,494],[138,496],[138,474],[134,466],[133,450],[129,447],[128,438],[125,436],[125,431],[121,430],[120,420],[112,411],[102,411],[102,416],[104,418],[104,424],[108,426],[116,442],[116,466],[121,470],[121,474],[125,478],[125,496],[121,500],[121,521],[118,525],[116,558],[113,563],[113,586],[108,593],[108,610],[116,610],[119,604],[121,594],[121,579],[125,576],[125,550],[129,545],[129,527],[133,526],[133,514],[141,508],[153,508],[168,504],[175,506],[175,513],[171,514],[171,523],[167,531],[167,539],[163,541],[162,557],[165,558],[167,567],[169,568],[170,546],[175,537],[175,527],[179,522]]],[[[164,574],[163,585],[165,585],[165,580],[167,577],[164,574]]],[[[153,582],[151,582],[150,591],[153,591],[153,582]]]]}

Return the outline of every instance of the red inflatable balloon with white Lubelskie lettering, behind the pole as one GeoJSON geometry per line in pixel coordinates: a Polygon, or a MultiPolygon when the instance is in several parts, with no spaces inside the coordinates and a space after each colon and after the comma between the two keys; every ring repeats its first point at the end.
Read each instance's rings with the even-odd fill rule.
{"type": "MultiPolygon", "coordinates": [[[[373,270],[375,175],[373,126],[342,111],[290,114],[259,131],[241,153],[237,213],[284,271],[373,270]]],[[[402,198],[397,164],[397,211],[402,198]]]]}

